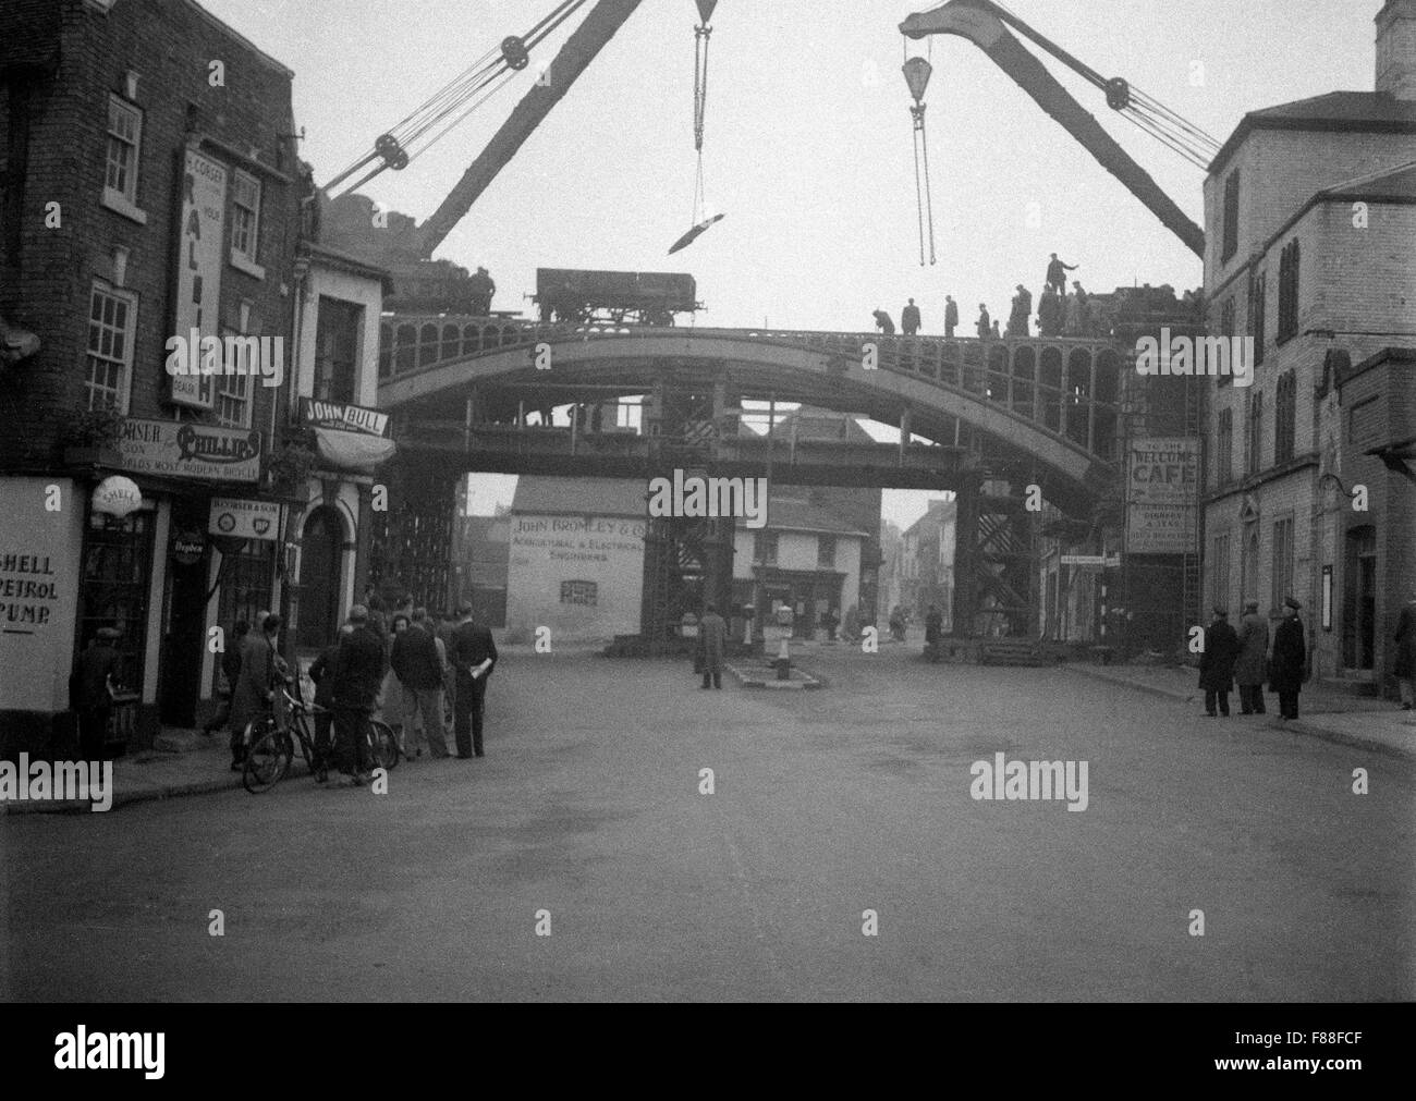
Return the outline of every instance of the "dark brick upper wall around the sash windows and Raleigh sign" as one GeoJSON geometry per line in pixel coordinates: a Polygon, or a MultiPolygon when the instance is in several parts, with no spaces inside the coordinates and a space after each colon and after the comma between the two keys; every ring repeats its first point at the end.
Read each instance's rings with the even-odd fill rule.
{"type": "MultiPolygon", "coordinates": [[[[30,156],[18,269],[0,304],[44,347],[10,388],[23,409],[24,433],[0,437],[0,468],[45,468],[58,454],[55,429],[85,406],[84,350],[91,286],[112,276],[112,250],[129,249],[125,289],[137,296],[137,330],[129,416],[173,417],[163,369],[171,335],[171,287],[178,209],[180,151],[188,119],[201,134],[234,147],[249,163],[211,146],[202,151],[262,180],[258,260],[265,279],[229,263],[221,270],[221,320],[234,323],[248,300],[256,333],[289,338],[293,255],[299,228],[297,163],[292,142],[290,76],[190,0],[126,0],[109,14],[82,0],[58,0],[61,62],[30,102],[30,156]],[[225,86],[208,79],[212,59],[225,64],[225,86]],[[125,92],[125,74],[139,74],[143,112],[137,207],[146,225],[102,205],[109,93],[125,92]],[[190,106],[191,105],[191,106],[190,106]],[[265,166],[269,171],[263,171],[265,166]],[[282,181],[279,177],[286,177],[282,181]],[[45,204],[62,204],[62,228],[44,226],[45,204]]],[[[0,38],[10,33],[0,16],[0,38]]],[[[231,195],[227,200],[229,252],[231,195]]],[[[287,348],[287,371],[293,350],[287,348]]],[[[269,430],[276,391],[255,386],[252,427],[269,430]]],[[[283,400],[283,399],[282,399],[283,400]]],[[[11,415],[14,409],[7,410],[11,415]]],[[[183,413],[183,416],[191,416],[183,413]]],[[[210,415],[202,415],[202,419],[210,415]]]]}

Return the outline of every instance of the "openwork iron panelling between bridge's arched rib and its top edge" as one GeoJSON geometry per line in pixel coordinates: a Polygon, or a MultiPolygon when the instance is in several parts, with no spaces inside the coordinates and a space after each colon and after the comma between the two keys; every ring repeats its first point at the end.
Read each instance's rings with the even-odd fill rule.
{"type": "Polygon", "coordinates": [[[1103,460],[1116,459],[1121,371],[1129,355],[1096,337],[896,337],[779,328],[675,328],[542,323],[455,314],[395,316],[381,325],[379,381],[455,359],[590,340],[749,340],[838,358],[844,372],[875,357],[882,371],[913,375],[997,403],[1103,460]]]}

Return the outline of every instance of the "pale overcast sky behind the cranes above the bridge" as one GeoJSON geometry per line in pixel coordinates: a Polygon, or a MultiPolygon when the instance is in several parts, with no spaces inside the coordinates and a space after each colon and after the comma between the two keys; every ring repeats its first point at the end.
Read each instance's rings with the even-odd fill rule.
{"type": "MultiPolygon", "coordinates": [[[[295,69],[302,156],[326,181],[552,0],[201,0],[295,69]]],[[[1247,110],[1369,91],[1381,0],[1010,0],[1010,10],[1104,76],[1124,76],[1223,142],[1247,110]],[[1197,72],[1195,62],[1202,71],[1197,72]]],[[[901,20],[910,0],[721,0],[714,16],[704,171],[726,218],[667,256],[692,221],[692,0],[644,0],[436,253],[530,309],[535,269],[690,272],[701,325],[869,330],[918,300],[940,331],[944,294],[967,324],[1014,284],[1037,296],[1048,253],[1089,290],[1202,283],[1199,259],[971,42],[910,42],[925,95],[937,263],[920,266],[901,20]]],[[[583,8],[588,11],[589,8],[583,8]]],[[[432,214],[535,81],[532,65],[402,173],[364,192],[432,214]]],[[[1029,45],[1029,48],[1034,48],[1029,45]]],[[[1035,50],[1035,48],[1034,48],[1035,50]]],[[[1204,173],[1048,69],[1161,188],[1202,222],[1204,173]]],[[[552,69],[554,79],[554,69],[552,69]]],[[[902,525],[922,494],[886,494],[902,525]],[[903,509],[903,511],[902,511],[903,509]]]]}

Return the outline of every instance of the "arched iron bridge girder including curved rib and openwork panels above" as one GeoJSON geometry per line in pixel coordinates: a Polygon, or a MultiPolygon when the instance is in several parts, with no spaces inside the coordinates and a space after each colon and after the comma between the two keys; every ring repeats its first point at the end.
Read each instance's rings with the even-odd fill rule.
{"type": "Polygon", "coordinates": [[[384,337],[379,406],[389,410],[479,385],[528,381],[548,386],[613,381],[624,393],[644,393],[663,379],[666,364],[675,364],[690,375],[701,374],[704,389],[731,369],[733,388],[748,398],[775,392],[779,400],[804,400],[884,423],[899,423],[908,409],[912,432],[932,439],[959,420],[1028,456],[1070,494],[1090,497],[1116,477],[1120,372],[1129,359],[1110,341],[573,327],[453,317],[385,318],[384,337]],[[865,364],[872,354],[875,368],[869,369],[865,364]],[[538,361],[549,369],[537,371],[538,361]]]}

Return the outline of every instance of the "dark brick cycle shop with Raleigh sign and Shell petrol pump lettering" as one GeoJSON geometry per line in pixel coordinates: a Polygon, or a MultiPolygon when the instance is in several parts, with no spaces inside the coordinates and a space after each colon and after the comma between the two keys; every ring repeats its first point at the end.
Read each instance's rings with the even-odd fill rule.
{"type": "Polygon", "coordinates": [[[193,0],[0,6],[0,316],[38,338],[0,365],[0,751],[62,749],[101,627],[130,696],[113,733],[142,744],[194,720],[208,628],[279,607],[280,507],[253,501],[289,420],[268,384],[290,367],[290,82],[193,0]],[[170,374],[193,330],[259,359],[170,374]],[[127,515],[95,507],[130,494],[115,477],[127,515]]]}

